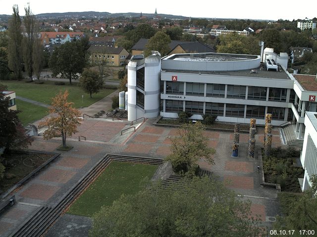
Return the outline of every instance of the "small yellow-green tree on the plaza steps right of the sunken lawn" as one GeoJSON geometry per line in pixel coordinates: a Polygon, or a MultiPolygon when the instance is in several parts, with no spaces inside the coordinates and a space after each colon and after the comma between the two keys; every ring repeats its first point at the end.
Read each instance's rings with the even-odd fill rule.
{"type": "Polygon", "coordinates": [[[171,139],[171,154],[166,157],[170,161],[174,172],[182,175],[194,175],[197,172],[197,162],[204,158],[210,164],[214,164],[213,148],[208,147],[208,138],[203,135],[203,124],[185,123],[179,128],[178,136],[171,139]]]}

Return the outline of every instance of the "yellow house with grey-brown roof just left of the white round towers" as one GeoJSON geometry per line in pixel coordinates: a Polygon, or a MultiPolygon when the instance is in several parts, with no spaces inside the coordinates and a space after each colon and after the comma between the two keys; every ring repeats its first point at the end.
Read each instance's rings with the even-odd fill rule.
{"type": "Polygon", "coordinates": [[[93,64],[98,60],[106,60],[108,65],[121,66],[126,64],[129,52],[124,47],[93,44],[89,47],[90,59],[93,64]]]}

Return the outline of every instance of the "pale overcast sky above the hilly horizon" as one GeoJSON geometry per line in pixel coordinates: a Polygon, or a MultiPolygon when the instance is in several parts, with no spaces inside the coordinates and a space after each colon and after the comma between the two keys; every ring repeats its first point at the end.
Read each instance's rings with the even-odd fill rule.
{"type": "Polygon", "coordinates": [[[143,12],[173,14],[187,17],[290,20],[317,17],[316,0],[0,0],[0,14],[12,14],[13,4],[19,6],[20,15],[30,2],[34,14],[49,12],[100,11],[110,13],[143,12]]]}

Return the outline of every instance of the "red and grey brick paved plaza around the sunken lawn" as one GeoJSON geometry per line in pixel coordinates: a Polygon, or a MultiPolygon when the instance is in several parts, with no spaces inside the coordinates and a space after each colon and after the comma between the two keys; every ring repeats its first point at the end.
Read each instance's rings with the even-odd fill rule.
{"type": "MultiPolygon", "coordinates": [[[[127,122],[95,121],[84,119],[79,132],[67,140],[73,146],[69,152],[61,155],[37,176],[15,191],[17,204],[0,216],[0,236],[6,237],[15,229],[25,216],[32,215],[44,205],[52,206],[63,194],[106,154],[135,155],[144,157],[165,158],[170,154],[171,139],[178,134],[177,128],[153,125],[154,119],[147,119],[135,132],[130,132],[124,142],[113,143],[120,139],[120,132],[127,127],[127,122]],[[79,135],[88,141],[78,141],[79,135]]],[[[281,146],[279,133],[273,129],[273,144],[281,146]]],[[[233,131],[205,131],[210,147],[216,150],[213,156],[215,165],[211,166],[201,159],[199,164],[211,170],[226,186],[236,191],[244,199],[252,201],[250,216],[260,217],[265,223],[267,216],[277,214],[276,192],[260,186],[259,173],[256,170],[258,157],[247,158],[248,134],[240,135],[239,157],[231,157],[233,131]]],[[[263,129],[256,135],[259,151],[263,145],[263,129]]],[[[59,139],[43,140],[35,137],[31,150],[58,152],[55,149],[61,144],[59,139]]],[[[256,153],[257,154],[257,153],[256,153]]],[[[58,225],[60,225],[59,223],[58,225]]],[[[266,223],[267,224],[267,223],[266,223]]],[[[58,236],[56,233],[47,236],[58,236]]]]}

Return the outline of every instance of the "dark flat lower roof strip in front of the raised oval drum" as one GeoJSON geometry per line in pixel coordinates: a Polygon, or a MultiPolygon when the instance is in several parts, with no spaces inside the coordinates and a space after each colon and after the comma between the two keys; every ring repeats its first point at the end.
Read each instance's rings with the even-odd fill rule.
{"type": "MultiPolygon", "coordinates": [[[[162,70],[167,73],[190,73],[190,74],[197,74],[198,71],[186,71],[186,70],[162,70]]],[[[201,74],[207,75],[221,75],[221,76],[234,76],[234,77],[252,77],[252,78],[268,78],[268,79],[285,79],[291,80],[287,73],[282,70],[281,72],[276,72],[275,70],[261,70],[258,68],[256,72],[251,70],[241,70],[241,71],[200,71],[201,74]]]]}

